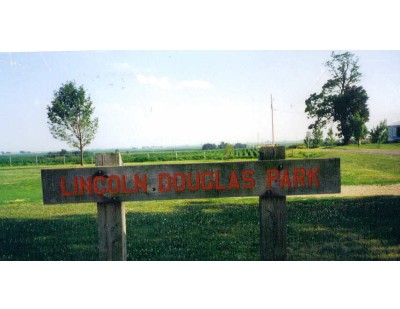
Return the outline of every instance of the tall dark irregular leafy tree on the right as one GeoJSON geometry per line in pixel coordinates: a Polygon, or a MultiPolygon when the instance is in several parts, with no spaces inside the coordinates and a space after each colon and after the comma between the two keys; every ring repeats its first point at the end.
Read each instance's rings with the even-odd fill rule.
{"type": "Polygon", "coordinates": [[[354,117],[364,123],[369,120],[368,95],[359,85],[361,73],[358,58],[350,52],[333,52],[325,66],[331,78],[322,86],[320,93],[311,94],[305,102],[305,112],[315,120],[309,129],[323,128],[329,122],[336,123],[339,137],[343,137],[343,143],[348,144],[357,130],[355,125],[359,125],[354,117]]]}

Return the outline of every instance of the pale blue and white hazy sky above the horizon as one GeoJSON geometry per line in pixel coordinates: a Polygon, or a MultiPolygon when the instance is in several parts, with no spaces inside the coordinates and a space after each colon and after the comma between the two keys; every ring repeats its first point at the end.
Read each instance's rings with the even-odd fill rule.
{"type": "MultiPolygon", "coordinates": [[[[33,51],[0,53],[0,151],[70,149],[48,129],[46,106],[75,81],[99,129],[88,149],[298,141],[304,101],[329,78],[323,51],[33,51]]],[[[337,51],[341,52],[341,50],[337,51]]],[[[400,52],[359,58],[371,128],[400,120],[400,52]]]]}

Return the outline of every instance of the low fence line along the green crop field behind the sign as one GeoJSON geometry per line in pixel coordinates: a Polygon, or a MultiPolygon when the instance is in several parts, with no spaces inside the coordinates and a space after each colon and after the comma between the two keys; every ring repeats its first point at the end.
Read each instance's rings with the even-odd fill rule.
{"type": "MultiPolygon", "coordinates": [[[[84,155],[84,164],[94,163],[94,153],[84,155]]],[[[126,151],[121,152],[124,163],[157,162],[157,161],[196,161],[225,159],[257,159],[257,148],[234,149],[227,152],[224,149],[215,150],[179,150],[179,151],[126,151]]],[[[68,165],[79,164],[80,156],[46,155],[46,154],[6,154],[0,155],[0,166],[26,165],[68,165]]]]}

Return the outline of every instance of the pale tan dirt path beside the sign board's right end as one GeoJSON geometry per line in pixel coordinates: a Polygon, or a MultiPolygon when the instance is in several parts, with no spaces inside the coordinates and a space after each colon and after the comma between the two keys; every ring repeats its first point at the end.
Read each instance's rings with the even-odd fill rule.
{"type": "MultiPolygon", "coordinates": [[[[323,194],[323,195],[310,195],[313,197],[346,197],[346,196],[382,196],[382,195],[396,195],[400,196],[400,184],[377,186],[342,186],[342,192],[338,194],[323,194]]],[[[304,196],[304,195],[303,195],[304,196]]]]}

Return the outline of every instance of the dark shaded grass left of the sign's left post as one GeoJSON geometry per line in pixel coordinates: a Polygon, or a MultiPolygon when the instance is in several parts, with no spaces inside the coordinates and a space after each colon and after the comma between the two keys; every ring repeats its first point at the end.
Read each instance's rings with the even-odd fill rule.
{"type": "Polygon", "coordinates": [[[0,260],[89,261],[98,258],[96,217],[0,219],[0,260]]]}

